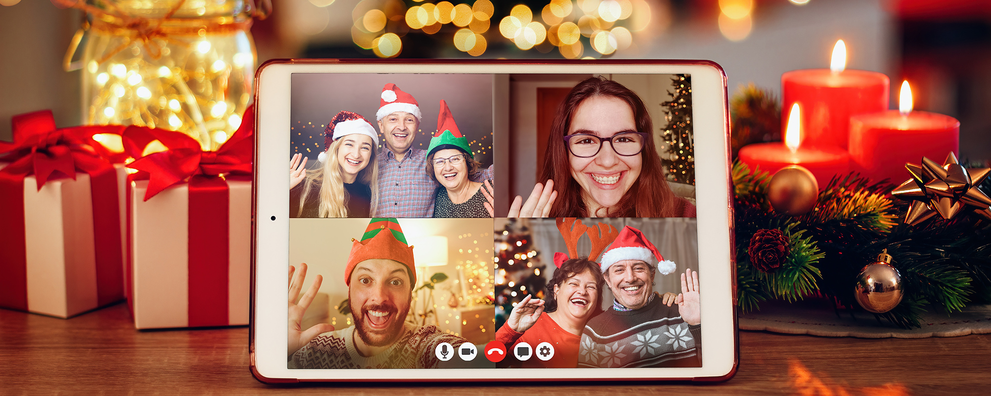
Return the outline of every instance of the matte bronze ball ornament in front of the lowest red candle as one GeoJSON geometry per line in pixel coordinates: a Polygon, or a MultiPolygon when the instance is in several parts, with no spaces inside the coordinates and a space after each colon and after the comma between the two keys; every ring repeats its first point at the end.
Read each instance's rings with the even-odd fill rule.
{"type": "Polygon", "coordinates": [[[809,169],[788,165],[771,177],[767,185],[767,199],[775,212],[801,216],[816,207],[819,183],[809,169]]]}

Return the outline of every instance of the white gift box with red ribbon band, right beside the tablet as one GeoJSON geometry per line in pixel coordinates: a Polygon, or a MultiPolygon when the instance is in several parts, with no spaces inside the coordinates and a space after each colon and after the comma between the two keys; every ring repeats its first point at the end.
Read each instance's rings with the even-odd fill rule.
{"type": "Polygon", "coordinates": [[[127,294],[137,329],[248,324],[251,181],[193,177],[202,179],[191,180],[192,194],[182,182],[148,201],[148,180],[129,186],[127,294]]]}

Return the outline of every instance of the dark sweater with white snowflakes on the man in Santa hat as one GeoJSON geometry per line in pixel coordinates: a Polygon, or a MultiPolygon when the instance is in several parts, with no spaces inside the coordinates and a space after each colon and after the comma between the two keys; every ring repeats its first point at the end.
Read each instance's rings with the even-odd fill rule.
{"type": "Polygon", "coordinates": [[[655,298],[632,311],[609,308],[582,332],[579,367],[701,367],[702,326],[655,298]]]}

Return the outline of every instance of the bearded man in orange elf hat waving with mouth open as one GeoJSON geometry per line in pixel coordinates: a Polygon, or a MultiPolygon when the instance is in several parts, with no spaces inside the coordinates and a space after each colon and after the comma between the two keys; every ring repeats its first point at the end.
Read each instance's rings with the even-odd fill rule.
{"type": "Polygon", "coordinates": [[[322,278],[317,275],[294,303],[306,276],[306,264],[301,264],[289,286],[289,368],[434,368],[440,363],[438,345],[466,343],[436,326],[406,322],[416,265],[413,247],[407,246],[396,219],[372,219],[362,240],[352,241],[344,282],[355,326],[334,331],[321,324],[302,330],[303,314],[322,278]]]}

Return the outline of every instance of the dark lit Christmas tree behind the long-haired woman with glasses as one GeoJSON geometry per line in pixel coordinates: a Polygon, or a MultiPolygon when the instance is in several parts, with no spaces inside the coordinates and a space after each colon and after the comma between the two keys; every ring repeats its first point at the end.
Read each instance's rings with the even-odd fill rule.
{"type": "Polygon", "coordinates": [[[668,125],[661,129],[661,139],[668,144],[662,153],[669,181],[695,185],[695,144],[692,133],[692,77],[671,77],[672,99],[661,102],[668,125]],[[666,154],[666,155],[665,155],[666,154]]]}

